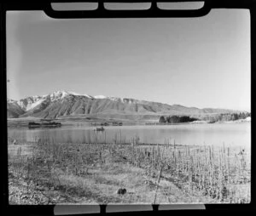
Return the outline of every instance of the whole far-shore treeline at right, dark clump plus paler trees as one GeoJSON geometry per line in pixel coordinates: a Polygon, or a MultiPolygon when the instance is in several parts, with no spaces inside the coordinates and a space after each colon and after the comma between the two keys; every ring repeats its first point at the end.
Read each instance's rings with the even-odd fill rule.
{"type": "Polygon", "coordinates": [[[218,115],[211,115],[211,116],[205,116],[200,118],[189,117],[189,116],[169,116],[169,117],[161,116],[159,122],[160,123],[180,123],[180,122],[194,122],[196,120],[204,120],[204,121],[213,123],[213,122],[236,121],[239,119],[245,119],[247,117],[251,117],[251,113],[249,112],[221,113],[218,115]]]}

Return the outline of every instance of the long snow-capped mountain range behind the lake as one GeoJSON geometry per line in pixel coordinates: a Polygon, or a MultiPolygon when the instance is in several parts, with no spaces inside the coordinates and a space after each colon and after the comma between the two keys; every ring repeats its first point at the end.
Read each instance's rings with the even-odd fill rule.
{"type": "Polygon", "coordinates": [[[160,115],[201,116],[219,113],[238,112],[226,109],[199,109],[183,105],[167,105],[140,99],[90,96],[69,91],[55,91],[43,96],[30,96],[25,99],[7,99],[9,118],[18,117],[119,117],[134,116],[157,118],[160,115]]]}

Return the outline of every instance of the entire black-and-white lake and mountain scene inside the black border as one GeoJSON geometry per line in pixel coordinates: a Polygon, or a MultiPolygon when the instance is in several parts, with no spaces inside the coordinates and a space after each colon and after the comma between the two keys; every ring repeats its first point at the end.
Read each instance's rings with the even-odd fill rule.
{"type": "Polygon", "coordinates": [[[8,11],[9,204],[250,203],[250,43],[247,9],[8,11]]]}

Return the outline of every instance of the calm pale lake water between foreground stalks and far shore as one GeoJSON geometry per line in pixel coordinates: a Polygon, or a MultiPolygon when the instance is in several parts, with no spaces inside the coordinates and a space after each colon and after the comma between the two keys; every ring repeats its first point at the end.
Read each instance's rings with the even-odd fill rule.
{"type": "Polygon", "coordinates": [[[63,143],[90,142],[131,142],[136,136],[140,143],[178,145],[236,145],[251,146],[251,122],[215,124],[178,124],[146,126],[111,126],[104,132],[96,132],[93,127],[61,128],[9,128],[8,136],[15,139],[34,141],[49,138],[63,143]]]}

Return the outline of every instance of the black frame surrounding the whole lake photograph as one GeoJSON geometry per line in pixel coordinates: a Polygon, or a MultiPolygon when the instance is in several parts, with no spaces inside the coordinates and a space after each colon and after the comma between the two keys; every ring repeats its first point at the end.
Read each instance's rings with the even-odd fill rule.
{"type": "MultiPolygon", "coordinates": [[[[7,213],[15,213],[15,214],[34,214],[34,215],[50,215],[54,214],[54,206],[15,206],[9,205],[9,191],[8,191],[8,150],[7,150],[7,86],[6,86],[6,12],[9,10],[43,10],[45,14],[49,15],[55,19],[61,18],[72,18],[72,19],[94,19],[94,18],[103,18],[103,19],[111,19],[111,18],[172,18],[172,17],[199,17],[204,16],[210,12],[211,9],[248,9],[250,11],[250,21],[251,21],[251,111],[252,111],[252,119],[253,113],[255,111],[255,83],[256,83],[256,1],[255,0],[243,0],[243,1],[211,1],[204,0],[205,4],[201,9],[197,10],[161,10],[156,7],[155,2],[151,1],[130,1],[130,2],[139,2],[139,3],[152,3],[151,8],[148,10],[133,10],[133,11],[122,11],[122,10],[106,10],[103,7],[103,3],[110,2],[129,2],[129,1],[42,1],[42,2],[9,2],[9,3],[1,3],[1,124],[3,126],[3,133],[1,136],[2,139],[2,170],[3,170],[3,206],[7,213]],[[91,11],[55,11],[50,7],[50,3],[65,3],[65,2],[96,2],[98,3],[98,8],[96,10],[91,11]]],[[[159,2],[179,2],[179,1],[159,1],[159,2]]],[[[186,1],[188,2],[188,1],[186,1]]],[[[196,2],[196,1],[193,1],[196,2]]],[[[197,212],[218,212],[218,211],[251,211],[255,210],[255,158],[253,157],[253,153],[256,151],[255,149],[255,122],[252,121],[252,141],[251,141],[251,203],[248,204],[206,204],[205,210],[195,209],[195,213],[197,212]]],[[[100,207],[96,207],[97,210],[89,213],[108,213],[108,207],[102,205],[100,207]],[[107,210],[106,210],[107,209],[107,210]]],[[[143,208],[142,208],[143,209],[143,208]]],[[[186,210],[191,210],[193,207],[184,207],[186,210]]],[[[174,209],[174,210],[177,210],[174,209]]],[[[158,211],[158,206],[152,207],[152,212],[147,210],[141,210],[143,213],[156,213],[158,211]]],[[[172,209],[166,211],[159,211],[158,213],[172,213],[172,209]]],[[[123,211],[120,209],[117,211],[122,213],[123,211]]],[[[138,213],[137,210],[132,210],[130,213],[138,213]]],[[[109,214],[109,213],[108,213],[109,214]]],[[[110,213],[116,214],[116,213],[110,213]]],[[[126,214],[126,213],[123,213],[126,214]]]]}

